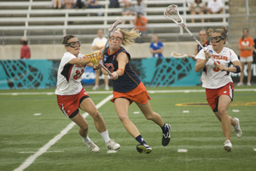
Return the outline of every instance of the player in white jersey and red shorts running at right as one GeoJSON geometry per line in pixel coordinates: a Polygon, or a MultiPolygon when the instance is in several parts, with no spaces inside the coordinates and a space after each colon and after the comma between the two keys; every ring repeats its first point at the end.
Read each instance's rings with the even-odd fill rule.
{"type": "Polygon", "coordinates": [[[229,73],[239,73],[241,71],[241,63],[237,55],[230,48],[224,47],[226,41],[227,28],[222,26],[221,29],[212,31],[209,29],[207,33],[212,32],[210,41],[212,45],[207,46],[195,56],[196,64],[195,71],[203,70],[202,87],[206,88],[207,101],[215,113],[224,132],[225,142],[224,150],[232,151],[230,140],[231,125],[237,138],[241,138],[241,128],[239,119],[230,117],[227,113],[231,101],[234,96],[234,84],[229,73]],[[210,58],[217,60],[215,64],[210,58]],[[230,64],[232,67],[229,67],[230,64]]]}

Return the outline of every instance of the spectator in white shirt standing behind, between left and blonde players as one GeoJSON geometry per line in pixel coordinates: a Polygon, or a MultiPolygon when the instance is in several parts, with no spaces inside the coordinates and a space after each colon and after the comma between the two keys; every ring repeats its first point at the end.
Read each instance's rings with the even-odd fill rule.
{"type": "MultiPolygon", "coordinates": [[[[100,49],[103,48],[103,46],[105,45],[105,43],[107,42],[107,38],[103,37],[103,31],[102,30],[98,30],[97,31],[97,35],[98,37],[96,37],[92,44],[91,44],[91,48],[94,51],[99,51],[100,49]]],[[[92,90],[97,90],[99,89],[99,83],[100,83],[100,70],[96,70],[96,77],[95,77],[95,86],[92,88],[92,90]]],[[[108,75],[104,75],[104,82],[105,82],[105,89],[109,90],[108,87],[108,75]]]]}

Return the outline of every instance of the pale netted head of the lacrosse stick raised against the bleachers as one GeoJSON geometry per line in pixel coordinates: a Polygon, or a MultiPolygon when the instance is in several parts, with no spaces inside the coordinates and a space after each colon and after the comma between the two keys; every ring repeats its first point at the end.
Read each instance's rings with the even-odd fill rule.
{"type": "Polygon", "coordinates": [[[166,7],[166,10],[164,11],[164,15],[167,19],[172,20],[177,25],[183,24],[183,18],[179,15],[177,5],[169,5],[166,7]]]}

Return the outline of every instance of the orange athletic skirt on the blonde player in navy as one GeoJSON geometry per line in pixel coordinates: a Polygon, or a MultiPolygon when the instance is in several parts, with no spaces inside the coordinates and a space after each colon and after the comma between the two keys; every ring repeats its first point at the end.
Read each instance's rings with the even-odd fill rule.
{"type": "Polygon", "coordinates": [[[145,88],[143,82],[141,82],[137,88],[132,89],[131,91],[125,92],[125,93],[119,93],[116,91],[113,91],[113,99],[110,100],[114,102],[117,98],[125,98],[130,101],[131,103],[137,102],[140,104],[146,104],[148,100],[151,100],[151,98],[148,96],[148,91],[145,88]]]}

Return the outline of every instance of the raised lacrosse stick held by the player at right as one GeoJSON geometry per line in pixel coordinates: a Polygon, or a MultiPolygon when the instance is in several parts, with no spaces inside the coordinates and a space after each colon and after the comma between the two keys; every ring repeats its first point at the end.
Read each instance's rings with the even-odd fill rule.
{"type": "MultiPolygon", "coordinates": [[[[183,23],[183,18],[179,15],[178,13],[178,9],[177,9],[177,5],[169,5],[168,7],[166,7],[166,10],[164,11],[164,15],[167,19],[170,19],[172,20],[173,22],[175,22],[178,26],[181,26],[183,27],[186,31],[189,32],[189,35],[191,37],[194,38],[195,42],[198,43],[201,48],[204,48],[201,43],[195,38],[195,36],[192,34],[192,32],[189,31],[189,29],[187,28],[187,26],[185,26],[185,24],[183,23]]],[[[212,58],[212,55],[211,55],[211,59],[214,61],[214,63],[216,65],[218,65],[217,61],[214,60],[214,58],[212,58]]]]}

